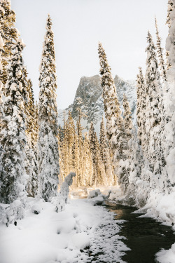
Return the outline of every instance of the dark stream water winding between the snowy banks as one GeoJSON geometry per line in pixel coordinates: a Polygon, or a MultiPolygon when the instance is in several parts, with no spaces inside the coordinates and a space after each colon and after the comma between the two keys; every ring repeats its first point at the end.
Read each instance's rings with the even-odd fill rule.
{"type": "Polygon", "coordinates": [[[167,227],[141,214],[132,214],[136,208],[106,202],[104,205],[109,211],[115,212],[115,220],[127,220],[120,231],[123,241],[131,251],[127,251],[123,260],[128,263],[152,263],[155,253],[161,248],[169,249],[175,243],[175,234],[171,227],[167,227]]]}

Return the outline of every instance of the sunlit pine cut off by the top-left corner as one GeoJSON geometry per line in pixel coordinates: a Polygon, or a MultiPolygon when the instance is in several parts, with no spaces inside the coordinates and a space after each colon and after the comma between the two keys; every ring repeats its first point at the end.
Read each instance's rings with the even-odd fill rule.
{"type": "Polygon", "coordinates": [[[1,36],[4,42],[3,54],[2,54],[2,67],[3,70],[0,74],[0,79],[5,88],[5,84],[8,78],[8,64],[10,57],[13,53],[12,47],[15,41],[18,39],[18,30],[15,29],[15,12],[11,10],[10,0],[0,1],[0,11],[3,18],[0,20],[1,36]]]}

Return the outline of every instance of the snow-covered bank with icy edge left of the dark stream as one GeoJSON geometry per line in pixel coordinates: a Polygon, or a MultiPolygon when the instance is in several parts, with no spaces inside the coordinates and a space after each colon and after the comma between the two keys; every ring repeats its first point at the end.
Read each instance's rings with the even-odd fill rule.
{"type": "Polygon", "coordinates": [[[61,213],[51,203],[28,200],[26,217],[16,227],[0,224],[0,263],[123,262],[123,222],[117,224],[113,213],[85,199],[70,200],[61,213]]]}

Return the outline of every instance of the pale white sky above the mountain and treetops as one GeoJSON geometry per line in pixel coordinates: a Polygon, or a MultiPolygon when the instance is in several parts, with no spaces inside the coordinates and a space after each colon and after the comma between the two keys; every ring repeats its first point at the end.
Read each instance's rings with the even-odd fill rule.
{"type": "Polygon", "coordinates": [[[73,102],[82,76],[99,74],[99,41],[106,50],[113,76],[117,74],[125,80],[136,79],[138,67],[146,69],[146,36],[149,29],[155,40],[155,16],[165,48],[167,0],[11,0],[11,6],[26,44],[23,58],[36,100],[45,23],[50,13],[59,109],[73,102]]]}

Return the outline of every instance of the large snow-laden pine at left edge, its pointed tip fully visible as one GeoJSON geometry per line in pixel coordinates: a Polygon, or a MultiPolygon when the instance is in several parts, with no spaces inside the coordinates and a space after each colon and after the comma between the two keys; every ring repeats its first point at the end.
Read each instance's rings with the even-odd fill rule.
{"type": "Polygon", "coordinates": [[[23,217],[26,202],[25,175],[25,102],[27,101],[27,80],[22,74],[24,63],[22,50],[25,44],[21,39],[13,45],[13,55],[8,67],[4,119],[1,130],[3,146],[1,173],[1,202],[12,203],[7,212],[6,224],[23,217]],[[11,219],[10,219],[11,218],[11,219]]]}

